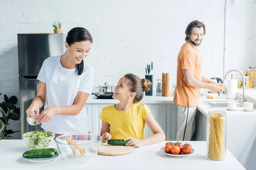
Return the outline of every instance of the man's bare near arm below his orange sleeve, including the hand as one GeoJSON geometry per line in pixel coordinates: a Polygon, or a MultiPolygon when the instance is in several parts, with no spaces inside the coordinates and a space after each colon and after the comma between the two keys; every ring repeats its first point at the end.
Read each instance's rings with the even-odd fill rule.
{"type": "Polygon", "coordinates": [[[207,88],[214,93],[224,91],[224,89],[219,86],[219,85],[222,85],[221,83],[210,84],[207,82],[203,82],[203,81],[195,78],[194,72],[195,72],[195,70],[193,70],[193,69],[183,70],[186,85],[194,87],[194,88],[207,88]]]}

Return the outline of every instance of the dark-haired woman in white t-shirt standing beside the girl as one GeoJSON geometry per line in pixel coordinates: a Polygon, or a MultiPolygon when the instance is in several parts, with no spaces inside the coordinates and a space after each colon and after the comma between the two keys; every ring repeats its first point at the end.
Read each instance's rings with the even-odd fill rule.
{"type": "Polygon", "coordinates": [[[38,74],[37,95],[26,113],[28,117],[34,117],[36,113],[41,127],[56,133],[56,137],[67,133],[90,133],[83,106],[92,92],[94,69],[83,59],[88,56],[92,42],[85,28],[71,29],[65,42],[66,52],[45,59],[38,74]],[[39,115],[43,105],[44,111],[39,115]]]}

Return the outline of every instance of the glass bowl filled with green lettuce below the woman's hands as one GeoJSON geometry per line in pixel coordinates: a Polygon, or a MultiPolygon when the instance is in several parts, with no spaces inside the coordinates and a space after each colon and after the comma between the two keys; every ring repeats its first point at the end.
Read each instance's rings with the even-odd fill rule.
{"type": "Polygon", "coordinates": [[[22,139],[31,149],[44,149],[53,141],[55,133],[49,131],[32,131],[23,133],[22,139]]]}

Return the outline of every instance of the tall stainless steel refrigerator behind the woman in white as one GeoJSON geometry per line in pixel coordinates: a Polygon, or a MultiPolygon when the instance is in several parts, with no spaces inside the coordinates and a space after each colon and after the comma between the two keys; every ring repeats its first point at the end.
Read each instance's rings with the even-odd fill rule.
{"type": "MultiPolygon", "coordinates": [[[[29,108],[38,90],[36,79],[44,59],[62,55],[64,52],[64,34],[18,34],[18,62],[20,87],[20,125],[21,134],[42,130],[41,125],[31,126],[26,122],[26,110],[29,108]]],[[[40,109],[44,109],[44,106],[40,109]]]]}

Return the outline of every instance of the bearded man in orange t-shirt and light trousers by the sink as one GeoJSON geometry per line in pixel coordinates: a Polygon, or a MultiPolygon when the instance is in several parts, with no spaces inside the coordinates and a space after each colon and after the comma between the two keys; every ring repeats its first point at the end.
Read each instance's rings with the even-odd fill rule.
{"type": "Polygon", "coordinates": [[[189,141],[195,132],[195,113],[197,110],[200,89],[208,88],[212,92],[224,91],[220,83],[210,84],[201,74],[202,58],[197,46],[205,34],[204,23],[192,21],[186,28],[186,38],[177,58],[177,85],[173,102],[178,108],[177,141],[189,141]]]}

